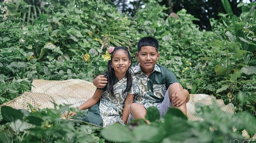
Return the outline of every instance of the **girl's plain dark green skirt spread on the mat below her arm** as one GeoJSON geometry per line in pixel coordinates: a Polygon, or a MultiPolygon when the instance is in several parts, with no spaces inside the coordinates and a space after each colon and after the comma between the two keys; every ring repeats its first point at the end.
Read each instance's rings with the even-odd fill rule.
{"type": "Polygon", "coordinates": [[[98,102],[97,104],[89,108],[87,114],[84,114],[84,115],[76,114],[73,117],[73,119],[88,122],[90,124],[103,127],[103,121],[100,116],[99,106],[100,106],[100,102],[98,102]]]}

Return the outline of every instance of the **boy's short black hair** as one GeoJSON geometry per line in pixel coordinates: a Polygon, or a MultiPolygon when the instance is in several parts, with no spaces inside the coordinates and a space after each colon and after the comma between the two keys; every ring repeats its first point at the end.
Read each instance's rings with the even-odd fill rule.
{"type": "Polygon", "coordinates": [[[141,47],[143,46],[152,46],[156,48],[156,51],[158,52],[158,41],[154,37],[143,37],[138,42],[138,52],[140,52],[141,47]]]}

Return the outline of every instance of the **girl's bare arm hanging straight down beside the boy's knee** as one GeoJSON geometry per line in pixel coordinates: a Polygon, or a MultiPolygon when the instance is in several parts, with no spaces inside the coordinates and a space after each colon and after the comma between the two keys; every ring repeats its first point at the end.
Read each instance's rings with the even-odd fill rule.
{"type": "Polygon", "coordinates": [[[123,116],[122,116],[122,120],[125,124],[130,115],[130,105],[133,102],[133,97],[134,97],[134,94],[127,94],[127,96],[125,98],[125,107],[124,107],[123,116]]]}

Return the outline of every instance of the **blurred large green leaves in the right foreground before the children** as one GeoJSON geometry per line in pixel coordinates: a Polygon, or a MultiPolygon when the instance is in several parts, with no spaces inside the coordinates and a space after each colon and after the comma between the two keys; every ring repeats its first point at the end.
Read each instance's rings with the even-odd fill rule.
{"type": "MultiPolygon", "coordinates": [[[[152,114],[155,109],[147,109],[147,115],[152,114]]],[[[246,112],[233,115],[225,113],[216,102],[212,106],[198,105],[196,111],[197,116],[204,118],[203,122],[190,122],[186,117],[184,118],[185,115],[180,110],[170,109],[160,122],[154,121],[150,125],[140,126],[130,124],[125,127],[115,124],[103,129],[101,134],[105,139],[113,142],[212,143],[232,142],[235,139],[243,141],[245,140],[245,137],[242,137],[244,129],[250,137],[256,133],[256,120],[246,112]],[[125,132],[127,137],[117,136],[120,132],[125,132]]]]}

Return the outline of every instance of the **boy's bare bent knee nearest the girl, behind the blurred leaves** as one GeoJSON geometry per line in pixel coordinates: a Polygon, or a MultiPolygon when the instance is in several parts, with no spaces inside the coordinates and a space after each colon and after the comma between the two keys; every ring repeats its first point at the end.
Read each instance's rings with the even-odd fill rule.
{"type": "Polygon", "coordinates": [[[130,116],[131,119],[145,118],[147,110],[139,103],[132,103],[130,105],[130,116]]]}

